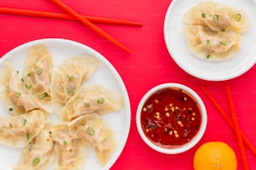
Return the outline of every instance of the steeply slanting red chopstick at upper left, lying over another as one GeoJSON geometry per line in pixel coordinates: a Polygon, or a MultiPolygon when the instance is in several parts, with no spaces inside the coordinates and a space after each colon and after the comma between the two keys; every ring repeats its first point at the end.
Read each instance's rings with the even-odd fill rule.
{"type": "Polygon", "coordinates": [[[120,42],[117,42],[113,37],[111,37],[109,34],[101,30],[100,28],[96,27],[95,24],[90,23],[88,19],[83,18],[79,13],[75,12],[72,8],[68,7],[67,5],[64,4],[64,2],[61,2],[59,0],[50,0],[51,2],[54,2],[54,4],[60,8],[62,8],[66,13],[69,13],[70,16],[73,18],[77,19],[80,23],[83,23],[84,26],[87,26],[100,34],[100,36],[105,37],[107,40],[110,42],[114,43],[116,46],[122,48],[125,50],[125,52],[130,52],[126,47],[124,47],[120,42]]]}

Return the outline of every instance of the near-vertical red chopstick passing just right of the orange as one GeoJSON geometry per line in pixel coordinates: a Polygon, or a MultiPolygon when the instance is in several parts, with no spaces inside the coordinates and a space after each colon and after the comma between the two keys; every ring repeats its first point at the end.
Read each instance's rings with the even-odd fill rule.
{"type": "Polygon", "coordinates": [[[237,114],[236,114],[236,111],[235,111],[235,107],[234,107],[234,104],[233,104],[233,98],[232,98],[229,86],[226,86],[226,91],[228,93],[228,102],[229,102],[230,109],[231,109],[231,116],[233,118],[233,126],[234,126],[234,129],[235,129],[236,137],[238,139],[238,147],[239,147],[239,152],[240,152],[241,158],[242,158],[243,168],[244,168],[244,170],[248,170],[249,168],[248,168],[248,162],[247,162],[247,159],[246,159],[246,153],[244,151],[243,138],[242,138],[241,133],[240,133],[240,128],[239,128],[239,125],[238,125],[238,117],[237,117],[237,114]]]}

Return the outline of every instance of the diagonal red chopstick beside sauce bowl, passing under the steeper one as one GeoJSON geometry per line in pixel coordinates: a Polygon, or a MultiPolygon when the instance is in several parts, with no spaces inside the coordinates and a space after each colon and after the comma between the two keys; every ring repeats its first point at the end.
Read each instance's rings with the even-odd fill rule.
{"type": "MultiPolygon", "coordinates": [[[[218,112],[223,117],[223,119],[228,123],[229,127],[232,128],[234,131],[233,121],[228,117],[228,114],[223,110],[223,108],[218,104],[218,102],[212,97],[212,95],[209,92],[207,92],[207,89],[205,87],[201,86],[201,89],[202,89],[202,92],[204,92],[207,98],[210,100],[210,102],[212,102],[213,106],[218,110],[218,112]]],[[[256,157],[256,148],[254,148],[253,143],[251,143],[242,132],[240,133],[243,138],[243,143],[246,144],[248,149],[253,153],[254,157],[256,157]]]]}

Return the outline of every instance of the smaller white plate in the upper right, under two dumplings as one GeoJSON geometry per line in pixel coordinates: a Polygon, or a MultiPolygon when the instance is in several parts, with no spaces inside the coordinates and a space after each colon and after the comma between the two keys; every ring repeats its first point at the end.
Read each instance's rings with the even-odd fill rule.
{"type": "Polygon", "coordinates": [[[252,28],[243,33],[242,44],[239,52],[223,62],[208,62],[194,57],[189,52],[187,39],[183,32],[183,15],[187,10],[198,2],[207,0],[173,0],[166,12],[164,23],[164,37],[166,47],[173,60],[182,67],[184,71],[194,77],[210,81],[228,80],[238,77],[249,68],[253,67],[256,61],[256,23],[255,11],[251,0],[213,0],[220,4],[227,4],[238,9],[243,9],[248,14],[252,28]]]}

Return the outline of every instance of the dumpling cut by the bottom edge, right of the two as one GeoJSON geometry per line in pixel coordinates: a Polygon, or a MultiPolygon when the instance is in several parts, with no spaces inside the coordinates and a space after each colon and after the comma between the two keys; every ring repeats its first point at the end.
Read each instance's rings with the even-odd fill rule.
{"type": "Polygon", "coordinates": [[[84,168],[87,148],[78,139],[70,137],[67,123],[55,125],[54,170],[79,170],[84,168]]]}

